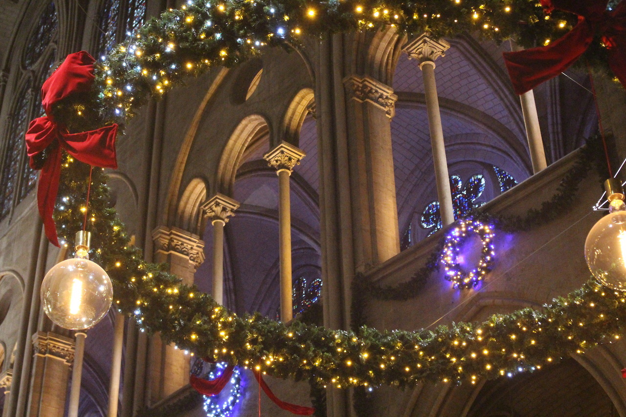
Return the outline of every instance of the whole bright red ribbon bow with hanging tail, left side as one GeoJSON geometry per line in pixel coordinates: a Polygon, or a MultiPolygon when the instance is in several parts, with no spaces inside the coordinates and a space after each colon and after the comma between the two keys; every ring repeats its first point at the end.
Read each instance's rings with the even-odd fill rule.
{"type": "Polygon", "coordinates": [[[26,150],[30,166],[38,169],[34,157],[48,148],[46,161],[41,167],[37,202],[48,240],[59,245],[52,214],[61,176],[61,148],[81,162],[103,168],[117,168],[115,136],[117,125],[81,133],[68,133],[52,114],[53,106],[75,93],[90,90],[95,75],[95,59],[85,51],[69,54],[63,64],[41,87],[41,104],[46,115],[31,121],[26,131],[26,150]]]}

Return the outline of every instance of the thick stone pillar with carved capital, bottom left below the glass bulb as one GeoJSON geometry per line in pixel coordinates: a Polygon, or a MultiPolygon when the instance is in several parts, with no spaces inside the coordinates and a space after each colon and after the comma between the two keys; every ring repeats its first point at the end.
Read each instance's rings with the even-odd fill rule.
{"type": "Polygon", "coordinates": [[[63,417],[74,342],[53,332],[33,335],[33,373],[28,417],[63,417]]]}

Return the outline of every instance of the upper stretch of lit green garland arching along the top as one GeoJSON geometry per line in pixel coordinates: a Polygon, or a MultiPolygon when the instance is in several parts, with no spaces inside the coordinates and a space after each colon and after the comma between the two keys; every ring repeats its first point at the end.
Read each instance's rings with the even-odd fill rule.
{"type": "MultiPolygon", "coordinates": [[[[305,36],[393,26],[399,33],[434,38],[466,32],[523,46],[543,45],[567,33],[577,16],[547,15],[536,0],[188,0],[150,19],[96,66],[95,87],[54,108],[71,131],[113,122],[123,125],[150,96],[160,97],[188,76],[231,66],[268,46],[297,45],[305,36]]],[[[585,62],[608,71],[600,36],[585,62]]]]}

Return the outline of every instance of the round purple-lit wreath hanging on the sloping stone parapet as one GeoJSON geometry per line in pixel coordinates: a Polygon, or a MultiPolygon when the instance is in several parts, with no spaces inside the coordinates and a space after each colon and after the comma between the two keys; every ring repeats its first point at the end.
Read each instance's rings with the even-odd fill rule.
{"type": "Polygon", "coordinates": [[[493,268],[493,226],[483,224],[471,217],[457,220],[457,225],[446,236],[441,252],[441,264],[446,271],[445,277],[453,282],[454,288],[471,288],[483,279],[493,268]],[[461,249],[467,240],[476,234],[482,244],[480,260],[471,270],[461,265],[463,254],[461,249]]]}

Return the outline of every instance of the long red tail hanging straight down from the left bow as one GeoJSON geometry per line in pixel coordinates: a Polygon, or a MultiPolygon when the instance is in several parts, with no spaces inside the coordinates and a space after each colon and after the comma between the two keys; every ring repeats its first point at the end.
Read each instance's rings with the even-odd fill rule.
{"type": "Polygon", "coordinates": [[[56,194],[59,191],[59,178],[61,177],[61,148],[54,147],[51,149],[46,162],[41,168],[39,175],[39,187],[37,188],[37,205],[39,215],[43,220],[46,237],[51,244],[59,246],[59,239],[56,235],[56,225],[52,214],[54,212],[54,203],[56,203],[56,194]]]}

